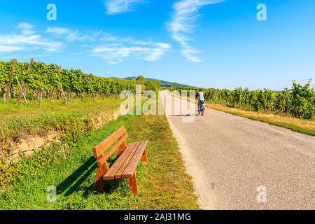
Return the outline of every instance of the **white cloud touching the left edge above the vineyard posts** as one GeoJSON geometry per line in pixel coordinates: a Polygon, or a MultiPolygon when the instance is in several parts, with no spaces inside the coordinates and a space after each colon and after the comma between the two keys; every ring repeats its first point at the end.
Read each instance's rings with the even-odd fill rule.
{"type": "Polygon", "coordinates": [[[0,52],[16,52],[20,50],[45,50],[46,52],[56,52],[62,49],[61,42],[52,41],[36,34],[34,25],[27,22],[18,24],[20,34],[1,34],[0,52]]]}

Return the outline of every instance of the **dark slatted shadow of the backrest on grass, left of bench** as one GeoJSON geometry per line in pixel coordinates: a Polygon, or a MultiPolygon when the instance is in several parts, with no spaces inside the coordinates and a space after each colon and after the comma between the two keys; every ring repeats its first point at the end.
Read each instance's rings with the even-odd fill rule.
{"type": "Polygon", "coordinates": [[[90,194],[94,183],[90,186],[80,186],[87,180],[87,178],[97,169],[94,157],[89,158],[83,165],[81,165],[75,172],[68,176],[62,183],[57,186],[57,193],[69,196],[78,190],[84,190],[84,196],[90,194]]]}

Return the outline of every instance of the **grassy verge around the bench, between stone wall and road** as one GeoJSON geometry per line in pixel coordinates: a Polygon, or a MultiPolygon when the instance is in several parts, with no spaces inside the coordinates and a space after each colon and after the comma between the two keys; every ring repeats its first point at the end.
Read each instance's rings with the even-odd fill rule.
{"type": "Polygon", "coordinates": [[[165,116],[119,118],[88,134],[69,149],[66,158],[60,157],[36,176],[25,175],[0,195],[0,209],[199,209],[165,116]],[[127,127],[129,141],[148,140],[149,164],[137,169],[140,195],[130,194],[126,180],[106,182],[105,193],[94,195],[92,146],[122,125],[127,127]],[[48,186],[57,187],[55,203],[47,201],[48,186]]]}

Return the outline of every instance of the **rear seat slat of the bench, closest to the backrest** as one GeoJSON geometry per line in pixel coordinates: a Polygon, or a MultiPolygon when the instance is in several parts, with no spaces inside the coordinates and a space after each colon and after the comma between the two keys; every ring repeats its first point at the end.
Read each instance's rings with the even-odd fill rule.
{"type": "Polygon", "coordinates": [[[118,172],[118,169],[120,169],[120,167],[123,165],[123,162],[125,162],[125,160],[128,158],[128,156],[132,156],[130,155],[131,153],[134,153],[134,148],[138,148],[139,143],[134,142],[132,144],[130,144],[129,146],[127,146],[127,148],[125,149],[125,151],[123,151],[123,153],[118,157],[118,159],[113,163],[113,165],[111,166],[111,169],[109,169],[108,172],[106,172],[106,174],[104,175],[104,180],[106,181],[110,181],[115,179],[115,175],[118,172]]]}

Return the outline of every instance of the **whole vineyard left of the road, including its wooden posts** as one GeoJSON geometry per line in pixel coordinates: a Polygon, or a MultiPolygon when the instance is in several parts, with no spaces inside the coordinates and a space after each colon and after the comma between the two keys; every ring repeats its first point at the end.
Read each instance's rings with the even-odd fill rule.
{"type": "Polygon", "coordinates": [[[106,97],[119,94],[123,90],[135,91],[136,81],[119,78],[102,78],[83,73],[78,69],[62,69],[56,64],[43,62],[29,63],[0,61],[1,98],[6,102],[10,98],[27,99],[53,97],[73,99],[75,97],[106,97]]]}

